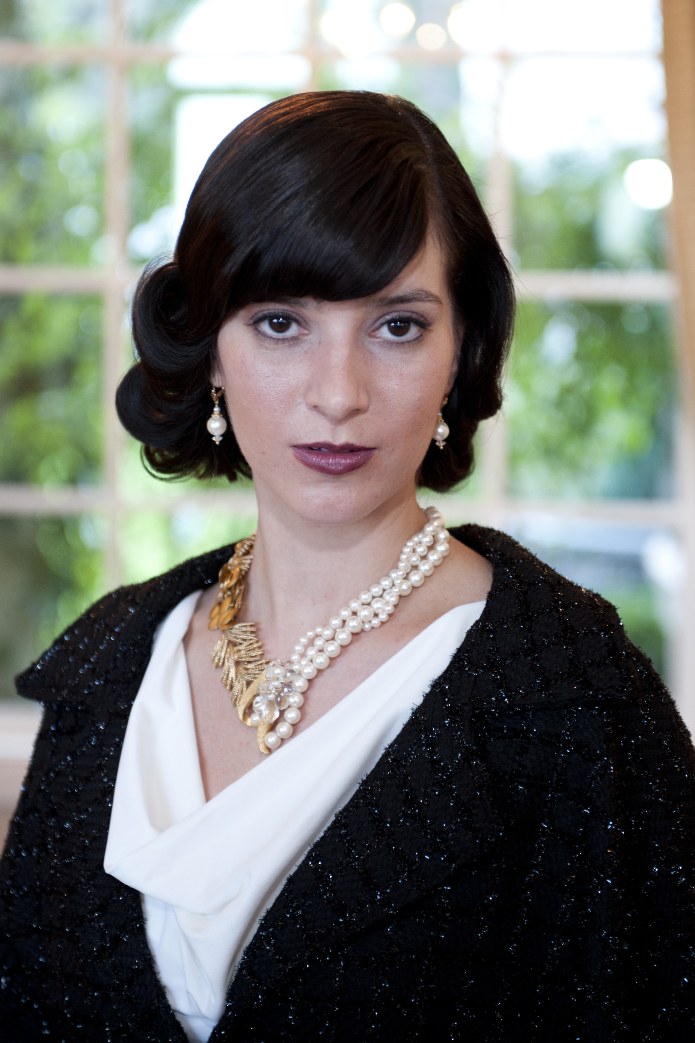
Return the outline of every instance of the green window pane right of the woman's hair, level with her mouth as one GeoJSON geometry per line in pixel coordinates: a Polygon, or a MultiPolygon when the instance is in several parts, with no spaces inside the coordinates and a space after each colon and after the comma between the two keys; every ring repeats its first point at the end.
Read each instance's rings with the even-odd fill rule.
{"type": "Polygon", "coordinates": [[[669,310],[531,304],[510,366],[510,490],[526,496],[673,492],[669,310]]]}

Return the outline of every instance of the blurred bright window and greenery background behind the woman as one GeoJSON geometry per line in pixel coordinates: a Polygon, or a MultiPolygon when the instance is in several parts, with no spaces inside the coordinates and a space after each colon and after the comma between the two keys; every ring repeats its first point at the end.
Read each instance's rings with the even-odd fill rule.
{"type": "Polygon", "coordinates": [[[0,804],[36,722],[13,676],[107,589],[254,525],[250,485],[149,478],[114,393],[133,282],[171,251],[208,153],[305,90],[420,105],[516,272],[502,415],[473,477],[423,502],[614,601],[695,727],[692,322],[673,273],[688,273],[674,164],[680,146],[688,172],[691,6],[0,0],[0,804]]]}

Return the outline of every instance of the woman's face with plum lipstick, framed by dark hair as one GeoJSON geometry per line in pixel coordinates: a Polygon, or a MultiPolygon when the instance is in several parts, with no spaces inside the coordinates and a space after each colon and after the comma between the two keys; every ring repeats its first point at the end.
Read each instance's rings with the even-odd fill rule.
{"type": "Polygon", "coordinates": [[[429,237],[370,297],[250,305],[218,354],[213,380],[260,501],[348,524],[409,498],[455,374],[442,248],[429,237]]]}

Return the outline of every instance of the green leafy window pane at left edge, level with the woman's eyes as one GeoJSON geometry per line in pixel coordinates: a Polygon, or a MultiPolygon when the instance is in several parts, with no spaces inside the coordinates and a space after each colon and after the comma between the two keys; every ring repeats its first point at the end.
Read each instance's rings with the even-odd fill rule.
{"type": "Polygon", "coordinates": [[[100,343],[97,297],[0,296],[0,481],[98,482],[100,343]]]}

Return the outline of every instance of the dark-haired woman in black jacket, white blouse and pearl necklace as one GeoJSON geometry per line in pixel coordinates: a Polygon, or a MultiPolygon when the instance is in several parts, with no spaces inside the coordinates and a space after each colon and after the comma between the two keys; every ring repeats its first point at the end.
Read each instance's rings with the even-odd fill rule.
{"type": "Polygon", "coordinates": [[[416,499],[470,472],[512,321],[414,105],[295,96],[213,153],[118,407],[156,474],[252,475],[258,528],[19,679],[4,1039],[690,1038],[670,697],[612,606],[416,499]]]}

